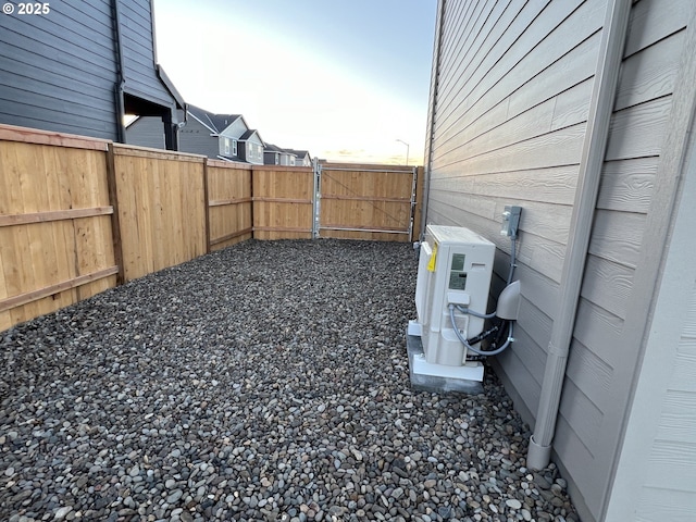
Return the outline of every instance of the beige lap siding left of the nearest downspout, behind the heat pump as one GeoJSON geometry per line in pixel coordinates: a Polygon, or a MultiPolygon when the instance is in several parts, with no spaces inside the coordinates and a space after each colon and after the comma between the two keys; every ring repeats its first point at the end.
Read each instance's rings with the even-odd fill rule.
{"type": "MultiPolygon", "coordinates": [[[[515,345],[495,365],[512,387],[515,408],[533,423],[558,308],[605,2],[504,7],[496,16],[505,24],[484,22],[492,37],[462,50],[465,58],[450,62],[449,79],[438,86],[427,217],[468,226],[496,244],[498,291],[510,251],[509,239],[499,237],[500,213],[505,204],[523,207],[515,276],[523,282],[525,312],[515,345]],[[511,13],[515,16],[506,18],[511,13]]],[[[606,363],[591,352],[573,360],[577,403],[566,402],[564,411],[588,415],[589,424],[583,431],[559,421],[571,434],[567,444],[577,448],[579,463],[592,456],[586,444],[597,437],[602,419],[599,399],[580,389],[588,382],[586,368],[605,371],[606,363]]],[[[606,373],[598,378],[604,383],[606,373]]]]}

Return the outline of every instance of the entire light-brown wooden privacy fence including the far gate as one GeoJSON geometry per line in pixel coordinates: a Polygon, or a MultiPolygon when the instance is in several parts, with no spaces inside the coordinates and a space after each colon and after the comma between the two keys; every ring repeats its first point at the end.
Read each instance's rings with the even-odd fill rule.
{"type": "Polygon", "coordinates": [[[0,331],[250,238],[418,235],[411,167],[326,166],[320,175],[0,125],[0,331]]]}

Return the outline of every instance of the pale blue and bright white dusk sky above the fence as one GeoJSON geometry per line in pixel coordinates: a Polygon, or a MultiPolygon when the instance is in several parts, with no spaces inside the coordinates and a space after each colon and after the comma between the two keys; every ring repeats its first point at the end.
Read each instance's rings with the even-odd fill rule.
{"type": "Polygon", "coordinates": [[[184,99],[334,161],[423,164],[437,0],[156,0],[184,99]]]}

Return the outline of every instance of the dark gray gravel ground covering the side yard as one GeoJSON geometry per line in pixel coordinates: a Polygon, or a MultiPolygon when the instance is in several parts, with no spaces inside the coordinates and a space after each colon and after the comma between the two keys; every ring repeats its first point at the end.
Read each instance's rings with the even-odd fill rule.
{"type": "Polygon", "coordinates": [[[0,520],[577,521],[492,371],[411,389],[415,271],[247,241],[0,333],[0,520]]]}

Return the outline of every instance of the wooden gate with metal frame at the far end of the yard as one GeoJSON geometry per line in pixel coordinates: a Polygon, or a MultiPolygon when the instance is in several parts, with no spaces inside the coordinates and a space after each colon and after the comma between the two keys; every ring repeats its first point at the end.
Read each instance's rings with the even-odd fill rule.
{"type": "Polygon", "coordinates": [[[314,237],[411,241],[418,169],[316,163],[314,237]]]}

